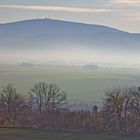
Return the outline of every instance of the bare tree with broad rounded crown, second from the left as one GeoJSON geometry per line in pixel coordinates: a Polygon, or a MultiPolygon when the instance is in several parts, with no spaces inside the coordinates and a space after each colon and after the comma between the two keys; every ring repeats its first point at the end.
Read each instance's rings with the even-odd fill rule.
{"type": "Polygon", "coordinates": [[[42,125],[46,125],[48,119],[52,123],[54,111],[66,103],[66,93],[56,84],[36,83],[29,94],[33,107],[39,112],[39,120],[43,120],[42,125]]]}

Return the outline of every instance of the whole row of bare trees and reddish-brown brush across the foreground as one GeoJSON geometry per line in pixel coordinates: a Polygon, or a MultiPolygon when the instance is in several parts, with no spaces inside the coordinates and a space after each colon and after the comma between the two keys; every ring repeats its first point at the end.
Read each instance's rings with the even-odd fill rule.
{"type": "Polygon", "coordinates": [[[140,88],[105,90],[103,106],[92,111],[66,107],[67,95],[56,84],[36,83],[28,96],[13,84],[0,90],[0,126],[92,133],[140,133],[140,88]]]}

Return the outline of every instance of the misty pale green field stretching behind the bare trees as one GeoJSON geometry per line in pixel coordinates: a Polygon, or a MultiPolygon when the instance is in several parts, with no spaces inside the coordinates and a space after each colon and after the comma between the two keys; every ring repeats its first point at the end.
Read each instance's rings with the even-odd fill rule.
{"type": "Polygon", "coordinates": [[[98,101],[103,90],[118,85],[140,85],[140,70],[98,69],[86,71],[72,66],[0,66],[0,87],[14,83],[27,94],[34,83],[57,83],[64,89],[70,101],[98,101]]]}

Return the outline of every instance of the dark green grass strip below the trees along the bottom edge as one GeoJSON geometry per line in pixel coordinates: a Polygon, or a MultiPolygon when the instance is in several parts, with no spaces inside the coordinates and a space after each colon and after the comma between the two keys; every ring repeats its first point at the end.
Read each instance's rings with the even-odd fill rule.
{"type": "Polygon", "coordinates": [[[140,136],[111,136],[37,129],[0,128],[0,140],[139,140],[140,136]]]}

